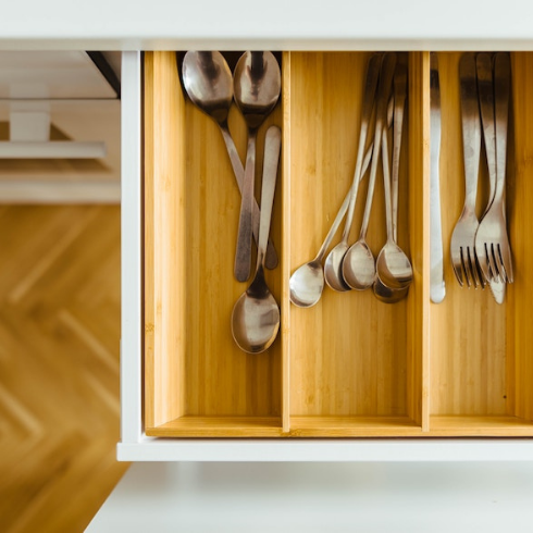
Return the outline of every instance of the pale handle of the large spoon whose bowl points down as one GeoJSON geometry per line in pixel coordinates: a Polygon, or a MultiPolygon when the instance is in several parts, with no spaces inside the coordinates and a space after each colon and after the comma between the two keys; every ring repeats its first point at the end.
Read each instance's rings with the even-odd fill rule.
{"type": "Polygon", "coordinates": [[[281,129],[277,126],[270,126],[264,139],[263,183],[261,187],[261,218],[259,221],[257,270],[264,266],[264,255],[269,239],[270,222],[272,219],[272,206],[274,203],[281,146],[281,129]]]}

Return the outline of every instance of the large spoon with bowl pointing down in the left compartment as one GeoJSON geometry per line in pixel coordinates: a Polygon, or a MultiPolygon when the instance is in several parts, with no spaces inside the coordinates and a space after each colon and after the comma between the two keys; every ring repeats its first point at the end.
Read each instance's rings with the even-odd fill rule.
{"type": "Polygon", "coordinates": [[[237,346],[248,354],[260,354],[274,342],[280,330],[280,307],[264,281],[264,252],[270,232],[282,133],[277,126],[266,132],[264,142],[261,220],[256,276],[232,312],[232,334],[237,346]]]}

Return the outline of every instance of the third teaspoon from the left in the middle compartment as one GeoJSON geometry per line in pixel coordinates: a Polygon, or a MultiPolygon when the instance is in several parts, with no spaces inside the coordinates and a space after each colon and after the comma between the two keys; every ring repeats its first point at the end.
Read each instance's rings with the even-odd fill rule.
{"type": "Polygon", "coordinates": [[[369,189],[367,204],[364,206],[363,220],[359,240],[350,247],[343,260],[343,276],[346,283],[358,290],[364,290],[372,286],[375,280],[375,263],[372,250],[367,244],[365,237],[370,222],[370,211],[374,196],[375,176],[380,161],[380,150],[384,125],[387,120],[387,101],[391,94],[396,54],[387,53],[383,60],[380,74],[380,87],[377,94],[377,111],[375,119],[374,153],[370,169],[369,189]]]}

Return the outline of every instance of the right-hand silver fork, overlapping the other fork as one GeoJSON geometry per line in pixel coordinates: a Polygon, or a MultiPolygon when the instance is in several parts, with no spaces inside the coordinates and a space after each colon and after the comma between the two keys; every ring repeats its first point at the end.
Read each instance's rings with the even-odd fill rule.
{"type": "MultiPolygon", "coordinates": [[[[482,70],[491,69],[487,54],[478,57],[482,70]]],[[[480,72],[479,72],[480,74],[480,72]]],[[[496,280],[512,283],[512,259],[505,214],[505,174],[507,152],[507,127],[509,116],[510,61],[507,53],[497,53],[494,64],[495,87],[495,145],[486,146],[487,158],[495,148],[493,159],[496,166],[496,187],[494,199],[478,228],[475,253],[483,275],[487,281],[496,280]],[[497,132],[497,136],[495,135],[497,132]]],[[[483,113],[483,106],[482,106],[483,113]]],[[[483,115],[482,115],[483,116],[483,115]]]]}

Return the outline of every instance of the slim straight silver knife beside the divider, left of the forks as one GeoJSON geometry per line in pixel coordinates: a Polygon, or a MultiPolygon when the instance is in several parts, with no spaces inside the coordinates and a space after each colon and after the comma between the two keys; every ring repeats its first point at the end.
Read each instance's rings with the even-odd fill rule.
{"type": "Polygon", "coordinates": [[[430,298],[439,303],[446,296],[444,282],[443,230],[441,218],[441,86],[435,53],[430,58],[430,128],[431,128],[431,182],[430,182],[430,298]]]}

